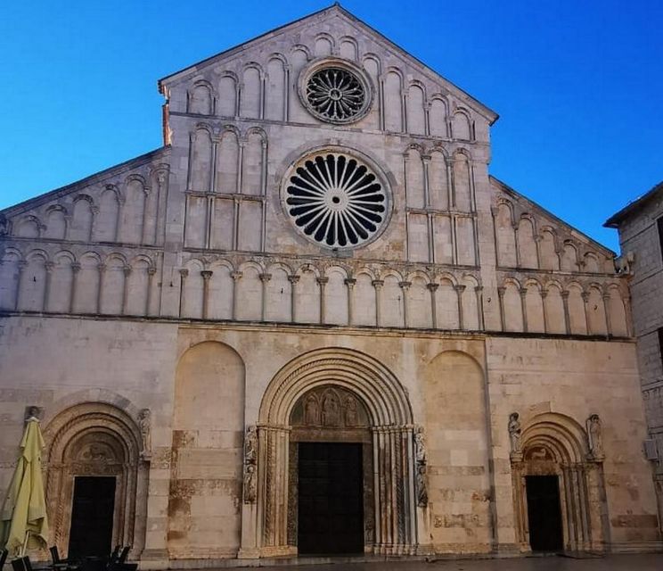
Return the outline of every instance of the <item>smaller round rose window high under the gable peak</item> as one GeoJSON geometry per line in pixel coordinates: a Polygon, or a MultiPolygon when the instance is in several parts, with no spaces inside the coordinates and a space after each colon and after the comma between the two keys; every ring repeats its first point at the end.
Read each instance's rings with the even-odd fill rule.
{"type": "Polygon", "coordinates": [[[347,124],[360,120],[371,108],[371,79],[354,62],[324,58],[299,76],[299,98],[315,118],[347,124]]]}

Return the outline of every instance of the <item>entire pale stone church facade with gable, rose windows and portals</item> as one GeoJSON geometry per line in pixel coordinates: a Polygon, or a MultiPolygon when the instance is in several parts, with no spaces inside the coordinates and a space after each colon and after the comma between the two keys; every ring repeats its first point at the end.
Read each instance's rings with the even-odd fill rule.
{"type": "Polygon", "coordinates": [[[0,484],[38,407],[61,551],[660,547],[626,279],[495,112],[338,5],[160,91],[163,147],[2,212],[0,484]]]}

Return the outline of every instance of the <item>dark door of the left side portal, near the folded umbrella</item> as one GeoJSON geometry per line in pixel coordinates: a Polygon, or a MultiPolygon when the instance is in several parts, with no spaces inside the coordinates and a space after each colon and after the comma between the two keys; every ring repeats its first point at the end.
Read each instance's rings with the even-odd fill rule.
{"type": "Polygon", "coordinates": [[[108,557],[114,508],[115,477],[77,476],[74,479],[69,558],[108,557]]]}

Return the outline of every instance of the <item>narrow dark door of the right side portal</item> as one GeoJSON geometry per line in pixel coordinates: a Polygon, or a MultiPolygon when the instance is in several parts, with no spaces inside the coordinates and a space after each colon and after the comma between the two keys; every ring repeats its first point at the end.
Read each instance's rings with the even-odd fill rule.
{"type": "Polygon", "coordinates": [[[561,551],[560,484],[558,476],[525,476],[528,493],[529,545],[533,551],[561,551]]]}

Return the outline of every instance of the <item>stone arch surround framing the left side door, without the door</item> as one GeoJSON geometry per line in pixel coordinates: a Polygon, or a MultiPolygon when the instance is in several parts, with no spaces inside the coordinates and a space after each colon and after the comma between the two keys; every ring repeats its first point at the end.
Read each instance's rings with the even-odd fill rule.
{"type": "Polygon", "coordinates": [[[145,543],[149,463],[134,418],[109,403],[83,402],[57,414],[44,436],[51,543],[68,552],[76,477],[114,477],[111,544],[131,545],[137,559],[145,543]]]}

